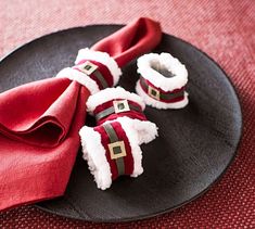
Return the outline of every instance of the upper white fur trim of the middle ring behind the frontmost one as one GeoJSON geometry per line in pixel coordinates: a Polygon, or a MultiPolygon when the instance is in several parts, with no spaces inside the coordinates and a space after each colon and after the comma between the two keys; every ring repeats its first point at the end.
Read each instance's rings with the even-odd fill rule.
{"type": "Polygon", "coordinates": [[[92,113],[98,105],[115,99],[130,100],[137,102],[142,107],[142,111],[145,109],[145,104],[142,101],[141,97],[139,97],[136,93],[126,91],[122,87],[117,87],[117,88],[106,88],[89,97],[87,101],[88,112],[92,113]]]}

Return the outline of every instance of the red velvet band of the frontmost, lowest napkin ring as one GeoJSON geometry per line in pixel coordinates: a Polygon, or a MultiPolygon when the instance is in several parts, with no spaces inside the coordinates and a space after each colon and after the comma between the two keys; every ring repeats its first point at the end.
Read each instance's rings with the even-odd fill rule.
{"type": "MultiPolygon", "coordinates": [[[[124,164],[125,164],[125,175],[131,175],[133,171],[133,158],[132,158],[131,147],[127,138],[127,135],[118,122],[112,122],[111,125],[114,128],[115,132],[117,133],[119,141],[124,141],[125,143],[125,149],[126,149],[126,154],[127,154],[126,156],[123,157],[124,164]]],[[[94,127],[94,130],[101,135],[101,143],[103,144],[106,151],[105,156],[111,167],[112,180],[115,180],[118,177],[118,170],[117,170],[117,165],[116,165],[115,160],[111,158],[111,154],[109,150],[109,143],[111,143],[110,138],[102,125],[94,127]]]]}

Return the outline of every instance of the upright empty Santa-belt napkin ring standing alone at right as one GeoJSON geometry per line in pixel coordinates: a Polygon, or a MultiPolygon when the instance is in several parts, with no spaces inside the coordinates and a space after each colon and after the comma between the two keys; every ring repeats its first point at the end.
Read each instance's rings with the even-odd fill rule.
{"type": "Polygon", "coordinates": [[[181,109],[188,104],[188,71],[178,59],[165,52],[150,53],[139,58],[137,65],[140,79],[136,90],[145,104],[156,109],[181,109]]]}

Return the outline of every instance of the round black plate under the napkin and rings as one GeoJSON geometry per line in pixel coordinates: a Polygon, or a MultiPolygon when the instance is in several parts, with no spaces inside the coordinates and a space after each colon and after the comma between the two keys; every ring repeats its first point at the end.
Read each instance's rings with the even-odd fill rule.
{"type": "MultiPolygon", "coordinates": [[[[77,51],[120,28],[94,25],[58,31],[36,39],[0,63],[0,91],[54,76],[74,63],[77,51]]],[[[238,97],[224,71],[206,54],[176,37],[164,35],[155,52],[170,52],[189,72],[190,102],[186,109],[146,107],[160,137],[143,145],[144,174],[124,177],[111,189],[95,188],[78,153],[63,198],[39,203],[41,209],[84,220],[126,221],[175,209],[204,193],[233,160],[241,137],[238,97]]],[[[124,68],[120,85],[133,91],[136,61],[124,68]]],[[[92,125],[93,119],[87,120],[92,125]]]]}

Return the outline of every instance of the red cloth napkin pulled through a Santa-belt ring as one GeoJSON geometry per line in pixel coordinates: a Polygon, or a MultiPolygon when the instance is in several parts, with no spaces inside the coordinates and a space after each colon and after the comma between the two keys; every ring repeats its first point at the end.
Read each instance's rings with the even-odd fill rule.
{"type": "MultiPolygon", "coordinates": [[[[139,18],[95,43],[122,67],[153,49],[161,27],[139,18]]],[[[0,209],[63,195],[86,119],[90,91],[67,78],[0,93],[0,209]]]]}

